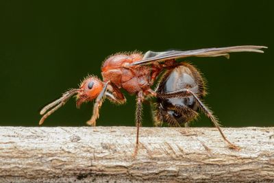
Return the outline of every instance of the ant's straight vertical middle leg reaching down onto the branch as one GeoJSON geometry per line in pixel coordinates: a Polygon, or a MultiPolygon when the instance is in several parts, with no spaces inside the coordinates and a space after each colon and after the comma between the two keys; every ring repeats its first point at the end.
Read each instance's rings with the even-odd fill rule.
{"type": "Polygon", "coordinates": [[[139,144],[139,128],[142,125],[142,100],[144,99],[142,91],[138,93],[137,101],[136,101],[136,127],[137,127],[137,133],[136,133],[136,146],[134,150],[134,156],[137,155],[138,152],[138,144],[139,144]]]}

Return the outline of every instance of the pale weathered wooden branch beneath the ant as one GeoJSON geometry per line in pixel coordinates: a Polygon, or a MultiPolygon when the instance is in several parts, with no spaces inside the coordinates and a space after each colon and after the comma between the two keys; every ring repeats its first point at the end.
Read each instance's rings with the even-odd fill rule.
{"type": "Polygon", "coordinates": [[[274,182],[274,127],[0,127],[0,182],[274,182]]]}

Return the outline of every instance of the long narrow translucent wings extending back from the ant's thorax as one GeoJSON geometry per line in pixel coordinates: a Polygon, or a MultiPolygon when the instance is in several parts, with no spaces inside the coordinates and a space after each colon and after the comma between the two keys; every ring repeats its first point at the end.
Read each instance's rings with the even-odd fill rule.
{"type": "Polygon", "coordinates": [[[232,52],[251,51],[251,52],[264,53],[264,51],[260,50],[263,48],[267,48],[267,47],[246,45],[246,46],[236,46],[236,47],[195,49],[195,50],[189,50],[189,51],[175,51],[175,50],[162,51],[162,52],[147,51],[147,53],[145,53],[142,60],[138,62],[134,62],[130,65],[149,64],[151,62],[161,62],[164,60],[187,58],[192,56],[195,56],[195,57],[225,56],[226,58],[229,58],[229,53],[232,53],[232,52]]]}

